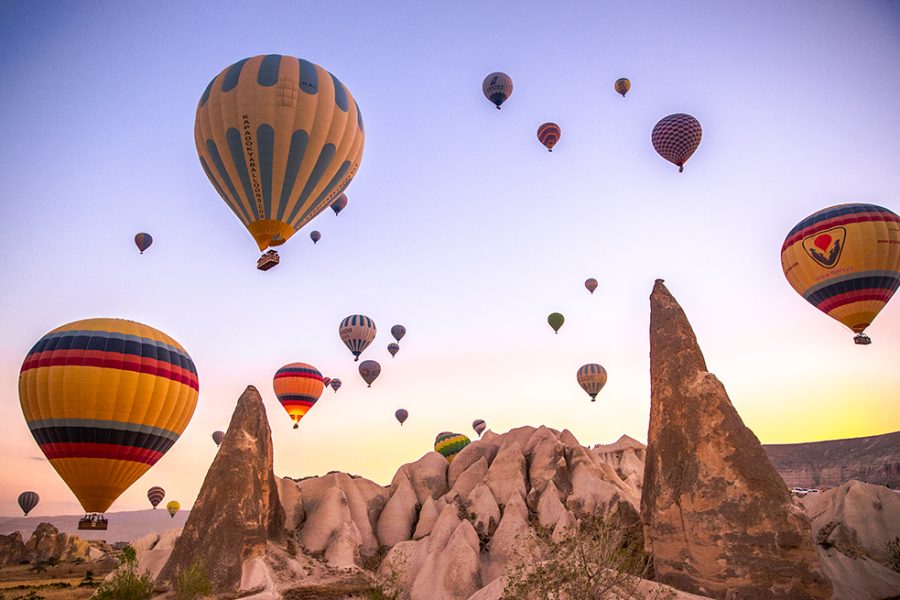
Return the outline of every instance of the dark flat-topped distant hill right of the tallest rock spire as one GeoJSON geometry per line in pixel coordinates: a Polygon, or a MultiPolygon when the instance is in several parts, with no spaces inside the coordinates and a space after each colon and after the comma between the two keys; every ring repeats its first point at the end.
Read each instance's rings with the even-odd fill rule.
{"type": "Polygon", "coordinates": [[[856,479],[900,489],[900,431],[763,447],[789,487],[832,488],[856,479]]]}

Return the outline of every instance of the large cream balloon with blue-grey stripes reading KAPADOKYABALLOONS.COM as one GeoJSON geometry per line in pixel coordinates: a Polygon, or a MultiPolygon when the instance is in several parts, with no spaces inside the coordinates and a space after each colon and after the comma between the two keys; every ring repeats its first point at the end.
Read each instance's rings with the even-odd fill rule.
{"type": "Polygon", "coordinates": [[[341,195],[364,137],[359,106],[337,77],[278,54],[226,67],[200,97],[194,122],[206,176],[261,251],[341,195]]]}

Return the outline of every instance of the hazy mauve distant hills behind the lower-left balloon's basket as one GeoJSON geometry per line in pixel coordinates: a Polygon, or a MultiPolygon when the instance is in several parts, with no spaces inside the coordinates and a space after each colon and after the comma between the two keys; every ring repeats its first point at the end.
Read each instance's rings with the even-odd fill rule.
{"type": "Polygon", "coordinates": [[[106,540],[114,544],[131,542],[152,532],[181,529],[188,514],[190,511],[181,510],[176,513],[175,518],[171,518],[164,509],[106,513],[109,519],[109,529],[106,531],[79,531],[78,519],[82,515],[0,517],[0,534],[20,531],[27,540],[40,523],[50,523],[62,532],[77,534],[83,540],[106,540]]]}

